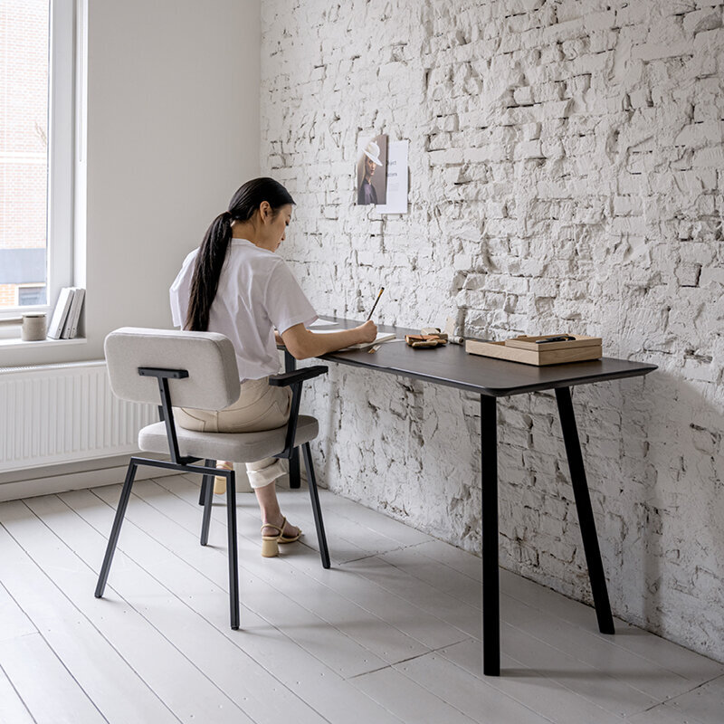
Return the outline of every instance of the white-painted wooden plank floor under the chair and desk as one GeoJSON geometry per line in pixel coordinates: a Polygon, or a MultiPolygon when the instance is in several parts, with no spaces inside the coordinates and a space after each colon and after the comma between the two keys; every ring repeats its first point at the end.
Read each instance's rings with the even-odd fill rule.
{"type": "Polygon", "coordinates": [[[321,491],[282,491],[306,545],[260,556],[239,498],[243,630],[225,510],[198,544],[197,476],[139,481],[106,597],[119,486],[0,503],[0,722],[721,724],[724,666],[505,571],[502,676],[481,677],[480,559],[321,491]]]}

